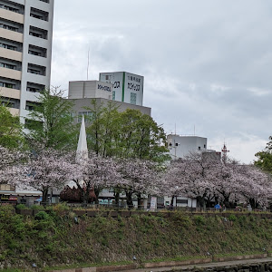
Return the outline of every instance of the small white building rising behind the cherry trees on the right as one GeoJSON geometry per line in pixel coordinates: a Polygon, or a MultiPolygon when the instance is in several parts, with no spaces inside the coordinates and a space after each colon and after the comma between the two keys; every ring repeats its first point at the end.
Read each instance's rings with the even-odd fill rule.
{"type": "Polygon", "coordinates": [[[184,158],[190,152],[207,151],[207,138],[199,136],[170,134],[167,136],[167,142],[172,160],[184,158]]]}

